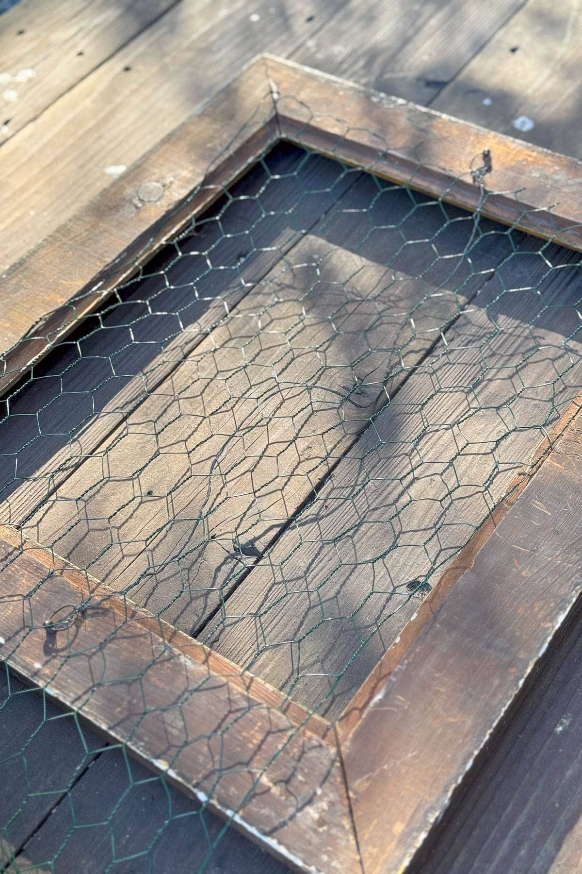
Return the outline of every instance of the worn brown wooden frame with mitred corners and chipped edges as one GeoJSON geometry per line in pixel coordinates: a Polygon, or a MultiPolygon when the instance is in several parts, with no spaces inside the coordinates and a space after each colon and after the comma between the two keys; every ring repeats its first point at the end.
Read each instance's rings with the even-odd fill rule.
{"type": "MultiPolygon", "coordinates": [[[[280,138],[582,251],[579,162],[262,56],[10,269],[0,390],[280,138]]],[[[335,725],[6,525],[0,654],[298,870],[408,870],[579,599],[577,412],[335,725]],[[49,635],[64,604],[76,621],[49,635]]]]}

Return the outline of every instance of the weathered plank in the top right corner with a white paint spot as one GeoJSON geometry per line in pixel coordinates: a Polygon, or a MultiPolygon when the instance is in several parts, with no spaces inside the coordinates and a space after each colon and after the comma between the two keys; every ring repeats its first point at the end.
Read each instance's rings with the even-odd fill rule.
{"type": "Polygon", "coordinates": [[[438,95],[434,108],[582,157],[577,0],[529,0],[438,95]]]}

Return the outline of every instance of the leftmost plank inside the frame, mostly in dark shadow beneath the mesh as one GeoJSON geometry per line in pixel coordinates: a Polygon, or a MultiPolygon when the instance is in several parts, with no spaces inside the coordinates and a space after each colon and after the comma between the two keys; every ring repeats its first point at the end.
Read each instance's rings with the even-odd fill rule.
{"type": "Polygon", "coordinates": [[[51,360],[6,400],[3,521],[22,524],[30,517],[214,325],[228,320],[357,177],[339,163],[279,143],[192,232],[161,252],[145,277],[83,319],[82,339],[56,344],[51,360]]]}

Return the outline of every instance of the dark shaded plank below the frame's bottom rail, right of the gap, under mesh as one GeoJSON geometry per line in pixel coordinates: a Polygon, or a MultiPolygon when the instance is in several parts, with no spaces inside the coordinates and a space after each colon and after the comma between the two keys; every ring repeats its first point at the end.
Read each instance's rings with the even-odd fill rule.
{"type": "MultiPolygon", "coordinates": [[[[30,696],[29,696],[30,697],[30,696]]],[[[55,874],[120,874],[193,870],[209,874],[285,874],[289,871],[223,822],[120,749],[106,749],[69,796],[26,843],[14,870],[51,865],[55,874]],[[91,826],[91,828],[83,828],[91,826]],[[216,843],[215,843],[216,842],[216,843]]],[[[10,871],[10,869],[9,869],[10,871]]]]}

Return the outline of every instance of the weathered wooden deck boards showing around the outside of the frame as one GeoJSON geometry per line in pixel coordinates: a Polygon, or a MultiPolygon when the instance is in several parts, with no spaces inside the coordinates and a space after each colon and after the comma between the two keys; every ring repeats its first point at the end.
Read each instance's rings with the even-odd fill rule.
{"type": "MultiPolygon", "coordinates": [[[[0,17],[0,73],[10,76],[0,94],[0,268],[262,51],[582,157],[581,25],[577,0],[22,0],[0,17]]],[[[572,623],[423,874],[577,870],[581,641],[579,623],[572,623]]],[[[72,718],[48,704],[44,710],[40,697],[11,683],[23,694],[12,695],[0,715],[0,779],[11,787],[0,798],[0,825],[28,801],[10,826],[10,848],[0,838],[0,866],[49,870],[43,862],[69,829],[107,821],[77,829],[54,871],[105,871],[113,840],[115,857],[127,858],[113,871],[140,874],[149,870],[147,857],[134,854],[171,816],[151,854],[152,870],[195,871],[221,824],[208,815],[201,822],[191,801],[168,794],[121,750],[104,749],[72,718]],[[33,783],[22,757],[14,757],[31,735],[33,783]]],[[[7,689],[3,678],[0,704],[7,689]]],[[[277,874],[284,867],[230,829],[206,871],[277,874]]]]}

